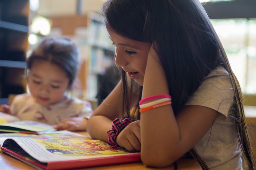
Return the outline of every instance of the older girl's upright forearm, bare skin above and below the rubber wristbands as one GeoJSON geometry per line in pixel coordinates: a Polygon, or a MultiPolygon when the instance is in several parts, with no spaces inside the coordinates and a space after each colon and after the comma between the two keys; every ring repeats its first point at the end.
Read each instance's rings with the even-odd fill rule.
{"type": "MultiPolygon", "coordinates": [[[[168,84],[160,62],[149,55],[142,99],[158,94],[169,94],[168,84]]],[[[172,163],[175,158],[172,158],[171,152],[177,147],[179,139],[179,128],[171,105],[141,113],[141,154],[146,164],[156,162],[155,159],[159,159],[159,164],[163,166],[172,163]],[[170,162],[161,162],[164,160],[170,162]]]]}

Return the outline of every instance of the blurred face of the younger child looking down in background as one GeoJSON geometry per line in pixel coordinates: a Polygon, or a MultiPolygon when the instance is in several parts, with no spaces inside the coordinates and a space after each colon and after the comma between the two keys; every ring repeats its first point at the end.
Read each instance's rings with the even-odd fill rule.
{"type": "Polygon", "coordinates": [[[36,103],[48,106],[65,99],[69,85],[65,70],[44,60],[35,60],[28,75],[28,87],[36,103]]]}

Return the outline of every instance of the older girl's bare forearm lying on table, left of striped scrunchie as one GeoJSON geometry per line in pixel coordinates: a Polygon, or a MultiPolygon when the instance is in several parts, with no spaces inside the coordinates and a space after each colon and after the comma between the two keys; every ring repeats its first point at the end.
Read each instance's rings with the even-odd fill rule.
{"type": "Polygon", "coordinates": [[[107,131],[111,129],[112,121],[105,116],[93,116],[87,122],[87,131],[94,139],[107,140],[107,131]]]}

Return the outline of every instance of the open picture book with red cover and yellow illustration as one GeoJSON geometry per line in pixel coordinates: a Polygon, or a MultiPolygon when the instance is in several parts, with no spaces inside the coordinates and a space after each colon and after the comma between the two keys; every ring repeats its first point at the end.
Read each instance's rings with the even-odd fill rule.
{"type": "Polygon", "coordinates": [[[73,132],[22,135],[0,134],[1,150],[37,169],[76,169],[141,161],[140,153],[112,148],[106,142],[73,132]],[[2,141],[1,135],[5,135],[2,141]]]}

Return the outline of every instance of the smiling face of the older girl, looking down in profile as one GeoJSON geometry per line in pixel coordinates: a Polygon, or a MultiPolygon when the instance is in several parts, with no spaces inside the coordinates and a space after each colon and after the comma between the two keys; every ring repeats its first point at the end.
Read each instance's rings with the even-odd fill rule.
{"type": "Polygon", "coordinates": [[[128,73],[131,79],[143,86],[150,43],[134,41],[107,29],[115,44],[115,64],[128,73]]]}

